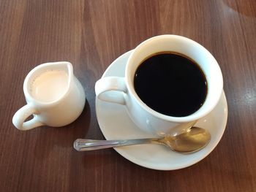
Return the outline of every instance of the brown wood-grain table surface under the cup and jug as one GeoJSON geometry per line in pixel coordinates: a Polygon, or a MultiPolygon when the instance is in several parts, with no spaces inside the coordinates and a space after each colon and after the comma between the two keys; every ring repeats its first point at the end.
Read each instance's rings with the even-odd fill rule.
{"type": "Polygon", "coordinates": [[[0,1],[1,191],[256,191],[256,1],[0,1]],[[219,145],[185,169],[158,171],[113,149],[78,153],[78,138],[104,139],[94,84],[119,55],[159,34],[189,37],[217,59],[228,120],[219,145]],[[86,107],[64,128],[19,131],[23,80],[39,64],[70,61],[86,107]]]}

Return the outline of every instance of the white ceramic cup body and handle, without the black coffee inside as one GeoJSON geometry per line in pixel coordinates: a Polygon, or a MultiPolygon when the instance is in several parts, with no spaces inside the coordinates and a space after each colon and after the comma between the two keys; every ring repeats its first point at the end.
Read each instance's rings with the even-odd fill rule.
{"type": "MultiPolygon", "coordinates": [[[[154,134],[181,134],[196,120],[214,109],[222,94],[222,72],[214,56],[202,45],[186,37],[161,35],[142,42],[127,60],[124,77],[102,77],[96,82],[95,91],[102,101],[122,104],[127,107],[130,118],[143,131],[154,134]],[[186,117],[176,118],[152,110],[135,93],[133,79],[140,63],[149,55],[163,51],[182,53],[200,65],[208,82],[208,94],[203,106],[186,117]]],[[[175,94],[175,93],[173,93],[175,94]]]]}

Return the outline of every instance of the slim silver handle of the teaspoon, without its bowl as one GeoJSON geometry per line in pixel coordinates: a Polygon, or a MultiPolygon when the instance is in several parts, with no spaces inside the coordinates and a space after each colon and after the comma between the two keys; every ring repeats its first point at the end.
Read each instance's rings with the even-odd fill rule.
{"type": "Polygon", "coordinates": [[[93,139],[76,139],[74,148],[78,151],[100,150],[111,147],[120,147],[127,145],[141,145],[146,143],[159,144],[157,138],[146,139],[127,139],[127,140],[93,140],[93,139]]]}

